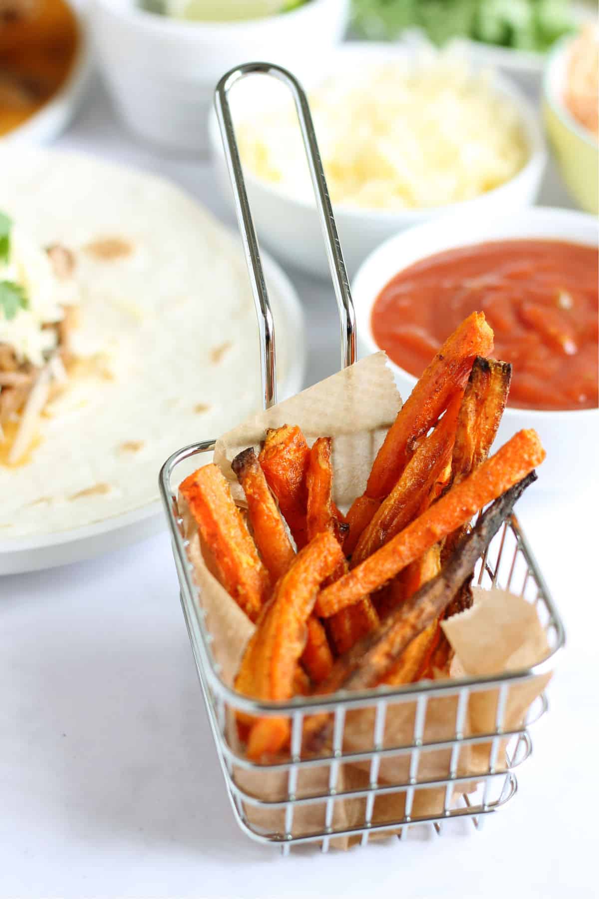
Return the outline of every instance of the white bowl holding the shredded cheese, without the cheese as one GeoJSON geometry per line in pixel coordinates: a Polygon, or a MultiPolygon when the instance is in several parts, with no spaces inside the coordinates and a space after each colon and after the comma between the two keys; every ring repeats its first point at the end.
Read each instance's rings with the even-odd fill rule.
{"type": "MultiPolygon", "coordinates": [[[[346,44],[332,51],[320,64],[315,62],[311,76],[304,79],[304,87],[309,91],[327,76],[339,76],[344,71],[355,75],[360,67],[380,67],[393,61],[410,60],[419,56],[418,49],[401,45],[346,44]]],[[[509,210],[522,209],[534,202],[547,158],[538,115],[524,94],[507,79],[494,76],[491,84],[498,96],[512,105],[520,120],[528,156],[524,167],[515,177],[493,190],[451,205],[419,209],[366,209],[333,203],[339,239],[350,274],[357,271],[359,264],[376,246],[403,228],[458,210],[468,211],[478,220],[486,220],[509,210]]],[[[268,89],[262,90],[263,87],[268,88],[268,79],[263,76],[252,76],[235,86],[230,99],[233,120],[237,124],[268,108],[268,104],[272,102],[272,93],[268,89]]],[[[232,202],[231,184],[214,110],[210,114],[208,132],[217,179],[226,198],[232,202]]],[[[276,183],[251,174],[247,166],[244,167],[244,174],[260,240],[283,262],[311,274],[328,277],[329,267],[312,192],[298,198],[283,191],[276,183]]]]}

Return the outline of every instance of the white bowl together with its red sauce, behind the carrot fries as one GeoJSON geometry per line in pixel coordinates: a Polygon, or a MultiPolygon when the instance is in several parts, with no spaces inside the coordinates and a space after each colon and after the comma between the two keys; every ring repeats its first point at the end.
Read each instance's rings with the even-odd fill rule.
{"type": "Polygon", "coordinates": [[[462,318],[485,312],[494,355],[513,364],[496,447],[535,428],[547,451],[539,486],[578,490],[595,477],[599,445],[598,236],[595,217],[543,208],[403,231],[353,281],[359,352],[388,352],[405,400],[462,318]]]}

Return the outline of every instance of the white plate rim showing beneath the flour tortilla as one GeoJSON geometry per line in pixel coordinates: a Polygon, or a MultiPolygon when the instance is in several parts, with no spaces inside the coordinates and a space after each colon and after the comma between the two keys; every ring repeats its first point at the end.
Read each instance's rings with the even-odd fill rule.
{"type": "MultiPolygon", "coordinates": [[[[279,330],[288,334],[287,343],[293,346],[293,358],[287,360],[287,374],[279,384],[280,398],[294,396],[302,389],[306,363],[304,310],[290,280],[266,253],[262,253],[264,274],[273,300],[283,310],[285,320],[278,322],[279,330]]],[[[198,432],[198,441],[216,440],[218,434],[198,432]]],[[[155,499],[131,512],[98,521],[92,525],[32,537],[0,540],[0,574],[19,574],[38,571],[70,562],[99,556],[112,549],[125,547],[137,540],[151,537],[165,527],[162,504],[158,500],[158,471],[156,471],[155,499]]]]}

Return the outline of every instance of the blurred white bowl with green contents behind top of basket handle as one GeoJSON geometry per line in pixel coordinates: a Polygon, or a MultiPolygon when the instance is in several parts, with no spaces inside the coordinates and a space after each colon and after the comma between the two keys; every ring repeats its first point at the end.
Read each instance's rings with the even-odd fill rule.
{"type": "Polygon", "coordinates": [[[345,31],[348,0],[310,0],[288,13],[243,22],[185,22],[134,0],[92,0],[101,70],[122,119],[162,147],[207,150],[216,83],[242,62],[266,59],[302,73],[345,31]]]}

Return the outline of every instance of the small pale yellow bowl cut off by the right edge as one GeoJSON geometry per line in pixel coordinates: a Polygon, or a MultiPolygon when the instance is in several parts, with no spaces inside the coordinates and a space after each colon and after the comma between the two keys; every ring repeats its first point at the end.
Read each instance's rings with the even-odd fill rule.
{"type": "Polygon", "coordinates": [[[581,209],[597,215],[599,143],[570,115],[561,99],[571,45],[571,38],[559,41],[547,61],[543,78],[543,120],[568,191],[581,209]]]}

